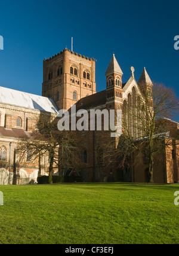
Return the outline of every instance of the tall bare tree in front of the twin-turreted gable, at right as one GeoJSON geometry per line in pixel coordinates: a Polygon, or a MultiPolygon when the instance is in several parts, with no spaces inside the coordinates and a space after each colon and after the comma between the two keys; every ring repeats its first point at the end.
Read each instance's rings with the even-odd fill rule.
{"type": "Polygon", "coordinates": [[[153,84],[152,90],[144,90],[146,84],[143,87],[140,85],[140,88],[141,95],[124,109],[127,112],[124,113],[123,136],[131,153],[135,151],[135,155],[141,156],[141,152],[145,151],[149,167],[148,182],[153,182],[153,157],[163,146],[169,147],[171,141],[174,143],[166,134],[168,130],[163,120],[175,116],[178,99],[173,90],[163,84],[153,84]]]}

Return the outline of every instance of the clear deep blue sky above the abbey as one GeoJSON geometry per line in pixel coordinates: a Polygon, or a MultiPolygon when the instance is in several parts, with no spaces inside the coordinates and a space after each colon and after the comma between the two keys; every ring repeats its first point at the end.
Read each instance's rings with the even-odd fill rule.
{"type": "Polygon", "coordinates": [[[65,47],[96,62],[97,91],[106,89],[112,54],[123,83],[144,66],[152,81],[179,96],[178,1],[1,1],[0,86],[41,95],[42,63],[65,47]]]}

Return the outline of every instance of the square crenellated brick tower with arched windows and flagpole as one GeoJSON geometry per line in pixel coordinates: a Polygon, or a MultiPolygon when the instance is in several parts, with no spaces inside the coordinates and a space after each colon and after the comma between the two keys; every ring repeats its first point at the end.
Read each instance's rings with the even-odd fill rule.
{"type": "Polygon", "coordinates": [[[44,60],[42,96],[68,110],[82,97],[96,93],[95,60],[64,48],[44,60]]]}

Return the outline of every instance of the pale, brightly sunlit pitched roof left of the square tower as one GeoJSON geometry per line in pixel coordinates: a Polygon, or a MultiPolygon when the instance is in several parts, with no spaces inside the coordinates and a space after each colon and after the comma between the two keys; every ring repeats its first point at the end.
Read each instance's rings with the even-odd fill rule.
{"type": "Polygon", "coordinates": [[[51,113],[58,112],[58,107],[53,99],[5,87],[0,87],[0,103],[20,106],[28,109],[38,109],[40,111],[47,111],[51,113]]]}

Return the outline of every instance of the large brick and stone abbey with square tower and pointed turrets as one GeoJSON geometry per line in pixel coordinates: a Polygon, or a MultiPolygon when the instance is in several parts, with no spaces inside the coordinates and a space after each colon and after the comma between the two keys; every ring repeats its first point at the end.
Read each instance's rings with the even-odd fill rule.
{"type": "MultiPolygon", "coordinates": [[[[63,51],[43,62],[42,96],[0,87],[0,184],[29,184],[36,182],[38,175],[48,175],[49,156],[39,160],[26,152],[23,163],[20,163],[17,153],[21,139],[30,137],[38,126],[41,114],[57,118],[60,109],[69,110],[73,105],[76,110],[86,109],[121,109],[122,118],[126,122],[127,131],[136,141],[143,137],[141,123],[129,110],[134,104],[140,105],[143,93],[149,96],[152,109],[152,81],[143,69],[140,79],[135,81],[134,68],[128,81],[123,81],[121,70],[113,54],[106,67],[105,90],[96,92],[95,60],[64,48],[63,51]]],[[[172,122],[178,131],[179,124],[172,122]]],[[[85,182],[132,181],[146,182],[147,166],[141,161],[140,166],[121,169],[116,163],[107,163],[103,157],[105,137],[98,130],[79,132],[85,145],[83,152],[85,168],[73,170],[69,175],[80,173],[85,182]]],[[[115,147],[120,139],[115,138],[115,147]]],[[[171,161],[167,154],[155,166],[154,181],[169,183],[179,181],[178,148],[171,151],[171,161]],[[175,156],[174,156],[175,155],[175,156]],[[164,160],[164,163],[163,163],[164,160]]],[[[58,175],[55,170],[54,175],[58,175]]]]}

